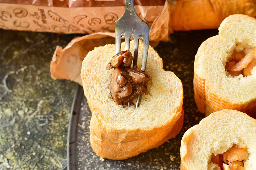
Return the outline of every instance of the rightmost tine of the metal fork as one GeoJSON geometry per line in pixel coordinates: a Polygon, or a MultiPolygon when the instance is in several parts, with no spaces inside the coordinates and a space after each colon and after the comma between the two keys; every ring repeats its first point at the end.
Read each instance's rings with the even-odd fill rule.
{"type": "MultiPolygon", "coordinates": [[[[146,70],[146,64],[147,64],[147,58],[148,58],[148,37],[143,38],[143,54],[142,54],[142,64],[141,64],[141,71],[145,72],[146,70]]],[[[142,88],[143,88],[144,82],[142,82],[142,88]]],[[[137,101],[136,101],[136,108],[140,106],[140,99],[141,94],[138,94],[137,101]]]]}

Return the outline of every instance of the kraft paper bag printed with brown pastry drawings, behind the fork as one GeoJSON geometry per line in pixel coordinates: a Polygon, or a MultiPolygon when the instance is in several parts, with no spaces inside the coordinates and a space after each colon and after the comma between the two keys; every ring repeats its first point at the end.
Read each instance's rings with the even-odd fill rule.
{"type": "MultiPolygon", "coordinates": [[[[151,26],[164,3],[165,0],[135,0],[135,8],[151,26]]],[[[62,34],[113,33],[115,21],[124,9],[125,0],[0,0],[0,28],[62,34]]],[[[166,37],[154,36],[154,39],[166,40],[166,37]]]]}

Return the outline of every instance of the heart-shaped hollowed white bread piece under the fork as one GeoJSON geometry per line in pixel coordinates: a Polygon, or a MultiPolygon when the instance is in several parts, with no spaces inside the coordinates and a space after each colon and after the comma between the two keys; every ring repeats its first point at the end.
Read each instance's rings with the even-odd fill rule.
{"type": "MultiPolygon", "coordinates": [[[[133,44],[131,41],[130,49],[133,44]]],[[[109,88],[113,69],[106,70],[114,55],[113,44],[90,51],[83,60],[81,78],[92,112],[91,146],[101,157],[121,160],[158,147],[181,130],[183,89],[181,80],[173,72],[163,70],[162,59],[149,46],[146,73],[151,80],[146,94],[142,94],[140,107],[117,105],[109,88]]],[[[138,69],[141,62],[142,42],[139,42],[138,69]]]]}

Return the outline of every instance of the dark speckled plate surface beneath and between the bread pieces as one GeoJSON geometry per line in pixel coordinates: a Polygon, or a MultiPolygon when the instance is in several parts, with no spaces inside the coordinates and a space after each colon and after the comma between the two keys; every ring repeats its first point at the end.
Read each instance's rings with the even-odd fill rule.
{"type": "MultiPolygon", "coordinates": [[[[163,58],[163,66],[167,71],[173,71],[183,84],[184,91],[184,125],[181,133],[162,146],[127,160],[114,161],[98,157],[90,147],[89,122],[91,112],[85,97],[81,103],[77,135],[78,169],[95,170],[154,170],[180,169],[180,142],[187,129],[199,123],[204,114],[197,112],[193,91],[194,57],[198,47],[207,38],[217,35],[217,30],[201,30],[176,32],[170,36],[169,42],[160,42],[155,48],[163,58]]],[[[74,126],[76,127],[76,126],[74,126]]],[[[71,155],[72,156],[72,155],[71,155]]]]}

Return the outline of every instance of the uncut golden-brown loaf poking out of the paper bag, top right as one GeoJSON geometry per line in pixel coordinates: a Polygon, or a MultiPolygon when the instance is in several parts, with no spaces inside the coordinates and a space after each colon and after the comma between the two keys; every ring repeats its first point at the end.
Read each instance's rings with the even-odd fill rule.
{"type": "Polygon", "coordinates": [[[171,28],[198,30],[218,28],[232,14],[256,16],[256,0],[177,0],[171,28]]]}

